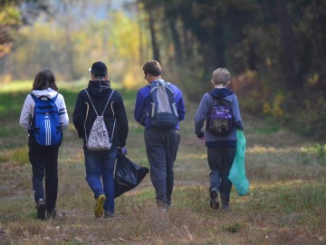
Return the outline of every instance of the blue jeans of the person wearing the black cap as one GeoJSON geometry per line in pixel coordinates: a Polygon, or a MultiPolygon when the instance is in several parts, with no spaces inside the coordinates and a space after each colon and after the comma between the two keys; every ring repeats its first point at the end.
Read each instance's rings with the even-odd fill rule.
{"type": "Polygon", "coordinates": [[[112,146],[110,151],[88,151],[84,149],[86,181],[97,199],[104,194],[104,210],[114,213],[114,163],[118,147],[112,146]]]}

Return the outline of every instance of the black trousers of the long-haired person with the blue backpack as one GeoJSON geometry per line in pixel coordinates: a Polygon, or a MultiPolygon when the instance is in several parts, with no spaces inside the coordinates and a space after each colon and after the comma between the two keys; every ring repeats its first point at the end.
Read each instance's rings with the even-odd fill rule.
{"type": "Polygon", "coordinates": [[[29,137],[29,160],[32,164],[32,183],[35,201],[43,199],[47,211],[55,209],[58,196],[58,153],[59,146],[40,146],[29,137]],[[45,177],[45,193],[43,180],[45,177]]]}

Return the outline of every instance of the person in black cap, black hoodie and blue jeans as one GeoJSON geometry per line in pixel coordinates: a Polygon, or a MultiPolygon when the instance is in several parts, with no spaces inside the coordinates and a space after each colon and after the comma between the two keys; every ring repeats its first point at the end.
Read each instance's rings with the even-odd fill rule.
{"type": "Polygon", "coordinates": [[[89,71],[91,80],[77,96],[72,120],[79,138],[83,139],[86,181],[96,200],[95,217],[101,218],[104,213],[104,217],[109,218],[114,215],[114,163],[118,152],[127,154],[129,124],[120,93],[110,87],[106,64],[96,62],[89,71]],[[102,113],[110,137],[110,150],[89,150],[87,139],[91,127],[102,113]]]}

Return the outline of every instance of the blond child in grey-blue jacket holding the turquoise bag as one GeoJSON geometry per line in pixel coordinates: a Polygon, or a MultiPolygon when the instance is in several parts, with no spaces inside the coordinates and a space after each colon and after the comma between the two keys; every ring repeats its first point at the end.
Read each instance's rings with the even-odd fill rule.
{"type": "Polygon", "coordinates": [[[227,69],[217,68],[212,76],[214,89],[204,94],[195,115],[195,133],[197,138],[205,141],[207,147],[207,161],[210,169],[210,207],[213,210],[219,209],[219,191],[222,209],[230,211],[229,201],[232,183],[228,180],[228,175],[235,159],[236,129],[244,129],[237,97],[234,92],[227,88],[230,82],[231,74],[227,69]],[[207,119],[211,104],[214,102],[212,95],[217,99],[225,99],[231,103],[233,131],[226,136],[216,136],[207,130],[203,132],[204,122],[207,119]]]}

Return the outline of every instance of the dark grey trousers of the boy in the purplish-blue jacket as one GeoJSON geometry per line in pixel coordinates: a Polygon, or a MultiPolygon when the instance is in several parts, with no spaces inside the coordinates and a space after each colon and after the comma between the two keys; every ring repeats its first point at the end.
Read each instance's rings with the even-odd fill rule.
{"type": "Polygon", "coordinates": [[[150,165],[150,179],[156,191],[156,200],[171,204],[174,186],[173,165],[177,158],[180,143],[178,130],[145,131],[146,152],[150,165]]]}

